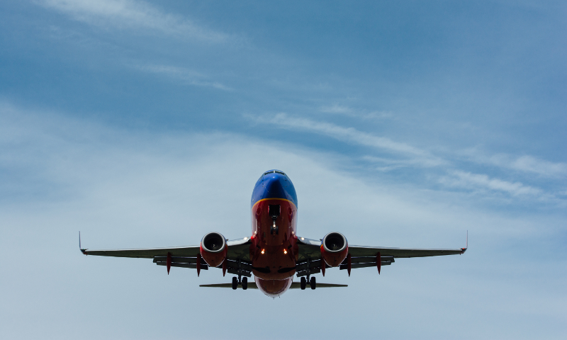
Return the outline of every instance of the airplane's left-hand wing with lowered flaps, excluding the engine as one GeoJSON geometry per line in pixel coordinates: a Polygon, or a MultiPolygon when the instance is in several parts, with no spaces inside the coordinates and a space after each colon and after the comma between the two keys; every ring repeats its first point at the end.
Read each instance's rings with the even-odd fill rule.
{"type": "MultiPolygon", "coordinates": [[[[238,274],[238,263],[242,276],[252,276],[252,264],[250,263],[249,246],[250,239],[233,239],[227,244],[227,271],[238,274]]],[[[158,266],[167,266],[167,258],[171,256],[172,267],[197,268],[198,259],[201,259],[199,269],[208,270],[208,264],[201,258],[200,246],[174,246],[171,248],[140,248],[140,249],[108,249],[91,250],[81,248],[79,234],[79,249],[85,255],[133,257],[154,259],[158,266]]]]}

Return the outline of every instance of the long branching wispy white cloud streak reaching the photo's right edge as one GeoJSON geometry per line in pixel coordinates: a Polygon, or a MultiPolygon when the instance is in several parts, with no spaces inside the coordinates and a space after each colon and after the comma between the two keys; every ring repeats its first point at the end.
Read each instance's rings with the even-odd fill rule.
{"type": "MultiPolygon", "coordinates": [[[[337,110],[338,109],[339,108],[337,108],[337,110]]],[[[464,168],[459,166],[461,156],[458,155],[458,152],[444,152],[441,155],[437,155],[403,142],[391,140],[388,137],[380,137],[370,132],[364,132],[355,128],[346,128],[309,118],[298,118],[296,116],[287,115],[286,113],[263,116],[246,115],[246,117],[259,123],[269,123],[287,130],[325,135],[335,140],[371,147],[378,152],[391,154],[391,157],[385,154],[381,156],[370,154],[361,157],[361,159],[367,162],[378,164],[378,166],[374,168],[377,171],[386,172],[400,168],[436,168],[428,174],[428,176],[434,179],[434,181],[442,183],[446,188],[461,188],[468,191],[483,192],[488,196],[505,193],[517,198],[561,200],[561,204],[564,204],[563,200],[556,196],[557,193],[554,189],[550,188],[549,190],[544,190],[543,188],[528,185],[514,179],[512,179],[512,181],[499,179],[498,175],[490,174],[490,170],[486,174],[466,171],[466,164],[461,164],[465,166],[464,168]],[[455,155],[455,153],[457,153],[457,155],[455,155]],[[459,167],[461,167],[461,169],[459,169],[459,167]]],[[[535,157],[529,156],[513,158],[511,156],[498,155],[491,158],[485,157],[483,159],[480,157],[469,157],[467,160],[472,162],[475,167],[489,164],[499,170],[516,169],[517,171],[542,175],[547,174],[549,176],[559,176],[561,175],[561,171],[563,171],[562,164],[541,161],[535,157]],[[507,160],[507,162],[505,162],[505,160],[507,160]]],[[[468,166],[470,165],[471,164],[468,164],[468,166]]],[[[500,171],[498,173],[500,173],[500,171]]]]}

